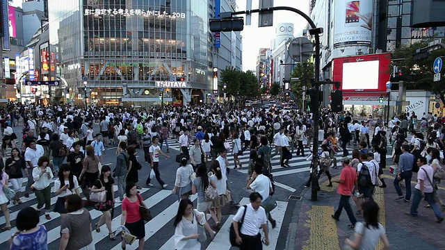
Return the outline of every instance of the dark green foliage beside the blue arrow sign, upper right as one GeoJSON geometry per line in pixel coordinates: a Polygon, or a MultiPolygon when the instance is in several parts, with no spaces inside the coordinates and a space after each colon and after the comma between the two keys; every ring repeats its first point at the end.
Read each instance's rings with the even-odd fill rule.
{"type": "Polygon", "coordinates": [[[435,58],[445,55],[444,49],[431,51],[428,58],[420,60],[415,60],[413,56],[417,49],[428,47],[428,42],[430,41],[431,39],[421,40],[414,44],[398,47],[392,56],[393,65],[402,70],[403,75],[398,78],[401,81],[408,82],[408,89],[427,90],[434,94],[440,94],[442,101],[445,103],[445,81],[443,77],[441,81],[433,81],[434,71],[432,69],[435,58]]]}

